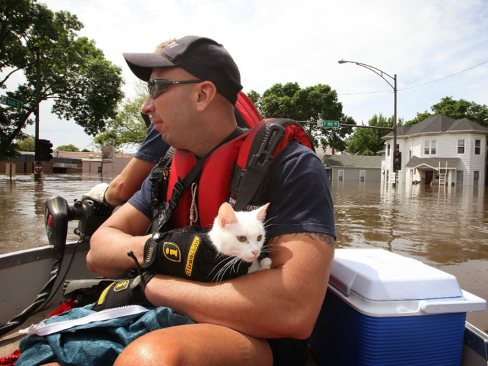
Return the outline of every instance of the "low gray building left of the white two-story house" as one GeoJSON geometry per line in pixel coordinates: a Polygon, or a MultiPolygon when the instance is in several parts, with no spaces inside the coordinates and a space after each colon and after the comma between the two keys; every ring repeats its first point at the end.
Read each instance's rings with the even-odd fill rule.
{"type": "Polygon", "coordinates": [[[366,155],[324,155],[330,181],[381,181],[381,156],[366,155]]]}

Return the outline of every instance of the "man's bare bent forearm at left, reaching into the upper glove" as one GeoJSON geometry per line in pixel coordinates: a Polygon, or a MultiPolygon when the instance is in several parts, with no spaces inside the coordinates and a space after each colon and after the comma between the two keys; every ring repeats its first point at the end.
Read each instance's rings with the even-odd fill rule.
{"type": "Polygon", "coordinates": [[[135,262],[127,253],[132,250],[142,264],[144,235],[151,220],[131,204],[124,204],[93,234],[86,263],[90,270],[107,278],[124,277],[135,262]]]}

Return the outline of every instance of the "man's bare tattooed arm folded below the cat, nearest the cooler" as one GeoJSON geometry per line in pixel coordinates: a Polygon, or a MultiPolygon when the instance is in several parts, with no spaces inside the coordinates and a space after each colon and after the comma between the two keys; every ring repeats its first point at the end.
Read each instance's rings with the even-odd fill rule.
{"type": "Polygon", "coordinates": [[[326,293],[334,237],[283,235],[270,241],[269,255],[270,270],[221,284],[156,275],[146,287],[146,298],[199,323],[227,326],[253,337],[306,339],[326,293]]]}

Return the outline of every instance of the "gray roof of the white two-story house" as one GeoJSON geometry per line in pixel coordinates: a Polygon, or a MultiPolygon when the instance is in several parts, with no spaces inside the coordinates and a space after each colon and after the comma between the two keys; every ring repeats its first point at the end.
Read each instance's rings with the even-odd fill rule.
{"type": "MultiPolygon", "coordinates": [[[[434,132],[461,132],[461,131],[475,131],[488,134],[488,128],[471,121],[470,119],[451,119],[443,114],[436,114],[430,116],[428,119],[417,123],[416,125],[402,125],[397,128],[397,137],[407,135],[419,135],[422,133],[434,132]]],[[[383,136],[383,139],[390,139],[393,137],[393,132],[383,136]]]]}

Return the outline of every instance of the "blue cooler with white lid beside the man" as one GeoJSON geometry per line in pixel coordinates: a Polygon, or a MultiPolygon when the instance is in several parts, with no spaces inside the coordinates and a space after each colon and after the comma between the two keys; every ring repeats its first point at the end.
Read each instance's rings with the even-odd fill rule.
{"type": "Polygon", "coordinates": [[[325,365],[456,365],[466,312],[456,277],[382,249],[337,249],[312,353],[325,365]]]}

